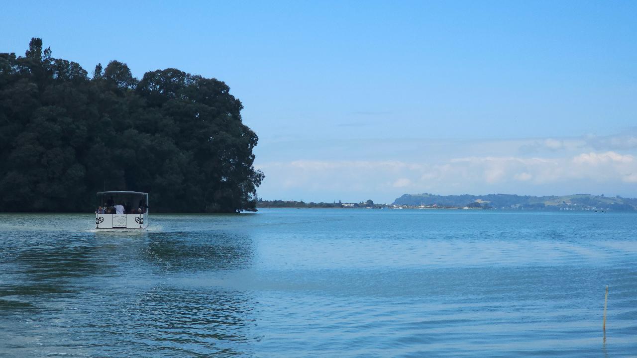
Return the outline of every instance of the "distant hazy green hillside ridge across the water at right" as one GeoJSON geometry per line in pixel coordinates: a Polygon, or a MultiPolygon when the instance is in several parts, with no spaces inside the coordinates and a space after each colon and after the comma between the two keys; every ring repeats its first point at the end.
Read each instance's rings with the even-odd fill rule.
{"type": "Polygon", "coordinates": [[[603,210],[635,211],[637,199],[621,196],[573,194],[567,196],[520,196],[515,194],[489,195],[435,195],[404,194],[392,205],[403,206],[457,206],[480,203],[501,210],[603,210]]]}

